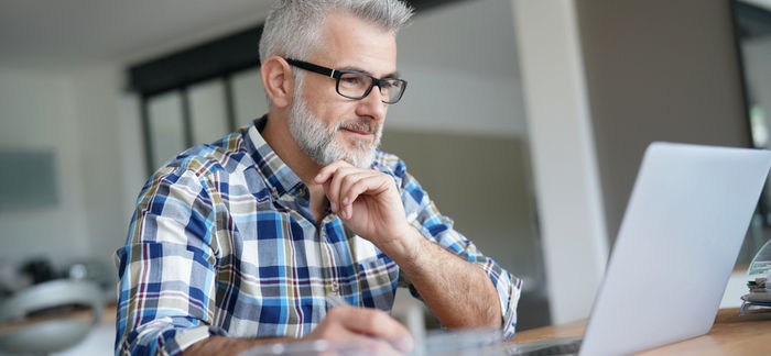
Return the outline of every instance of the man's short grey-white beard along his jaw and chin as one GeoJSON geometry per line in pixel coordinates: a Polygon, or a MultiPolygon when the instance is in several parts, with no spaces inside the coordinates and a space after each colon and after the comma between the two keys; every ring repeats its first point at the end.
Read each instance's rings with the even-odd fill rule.
{"type": "Polygon", "coordinates": [[[345,160],[358,168],[369,168],[374,162],[374,151],[380,146],[382,125],[368,119],[338,122],[326,125],[307,109],[305,100],[295,91],[289,114],[290,133],[300,148],[316,164],[324,167],[335,160],[345,160]],[[346,149],[337,138],[337,132],[350,129],[371,133],[374,140],[356,140],[351,149],[346,149]]]}

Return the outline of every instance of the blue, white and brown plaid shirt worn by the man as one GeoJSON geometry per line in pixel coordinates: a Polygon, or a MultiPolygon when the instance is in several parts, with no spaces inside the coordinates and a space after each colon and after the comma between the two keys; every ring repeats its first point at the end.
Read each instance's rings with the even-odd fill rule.
{"type": "MultiPolygon", "coordinates": [[[[209,335],[301,337],[329,293],[391,310],[399,266],[328,208],[316,223],[306,186],[260,135],[264,122],[186,151],[143,187],[116,254],[117,355],[176,355],[209,335]]],[[[453,230],[398,157],[379,152],[372,168],[393,177],[423,236],[487,272],[512,336],[521,281],[453,230]]]]}

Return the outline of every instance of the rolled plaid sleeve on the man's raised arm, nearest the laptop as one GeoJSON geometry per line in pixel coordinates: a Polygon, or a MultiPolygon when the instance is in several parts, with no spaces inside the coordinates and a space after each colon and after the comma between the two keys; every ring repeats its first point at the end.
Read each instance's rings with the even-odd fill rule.
{"type": "MultiPolygon", "coordinates": [[[[500,267],[495,259],[482,255],[471,241],[455,231],[453,220],[439,213],[417,180],[406,173],[401,160],[397,164],[393,174],[398,181],[401,180],[400,189],[408,221],[423,236],[478,266],[490,278],[500,300],[504,337],[511,338],[517,327],[517,304],[522,290],[522,280],[500,267]]],[[[414,287],[410,286],[410,291],[420,298],[414,287]]]]}

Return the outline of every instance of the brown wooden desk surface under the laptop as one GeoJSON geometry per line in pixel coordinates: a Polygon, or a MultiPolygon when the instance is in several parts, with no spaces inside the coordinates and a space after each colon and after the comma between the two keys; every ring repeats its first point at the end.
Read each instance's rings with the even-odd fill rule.
{"type": "MultiPolygon", "coordinates": [[[[738,315],[739,310],[720,309],[709,333],[680,343],[664,345],[637,355],[771,355],[771,313],[738,315]]],[[[577,336],[586,321],[539,327],[514,335],[524,344],[544,338],[577,336]]]]}

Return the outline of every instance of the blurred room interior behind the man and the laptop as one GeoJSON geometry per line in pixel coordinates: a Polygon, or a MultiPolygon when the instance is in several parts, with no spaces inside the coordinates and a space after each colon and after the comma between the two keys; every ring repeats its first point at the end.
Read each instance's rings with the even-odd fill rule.
{"type": "MultiPolygon", "coordinates": [[[[524,280],[519,330],[588,315],[650,142],[769,145],[771,1],[411,3],[382,149],[524,280]]],[[[115,301],[150,173],[267,112],[271,4],[0,0],[0,298],[64,278],[115,301]]],[[[725,305],[769,238],[767,201],[725,305]]],[[[65,354],[111,352],[107,310],[65,354]]]]}

